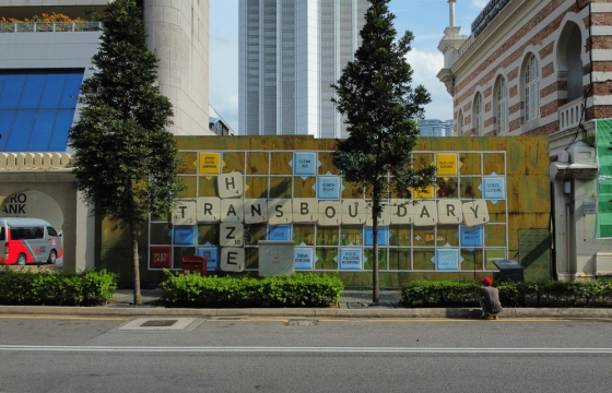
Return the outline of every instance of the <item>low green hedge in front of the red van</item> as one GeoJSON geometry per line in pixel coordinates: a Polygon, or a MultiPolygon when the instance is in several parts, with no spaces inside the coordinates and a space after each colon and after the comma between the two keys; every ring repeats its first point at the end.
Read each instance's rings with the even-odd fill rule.
{"type": "Polygon", "coordinates": [[[117,274],[87,270],[79,273],[0,269],[0,305],[96,306],[117,289],[117,274]]]}

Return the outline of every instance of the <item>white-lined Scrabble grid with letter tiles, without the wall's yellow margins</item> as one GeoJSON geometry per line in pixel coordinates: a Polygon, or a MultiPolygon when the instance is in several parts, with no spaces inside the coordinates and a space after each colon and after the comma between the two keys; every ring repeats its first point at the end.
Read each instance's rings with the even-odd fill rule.
{"type": "MultiPolygon", "coordinates": [[[[221,249],[239,242],[245,270],[257,271],[258,242],[269,239],[294,242],[296,270],[372,270],[372,223],[364,211],[368,194],[330,167],[333,152],[181,153],[196,157],[195,170],[181,172],[188,190],[172,217],[150,219],[151,270],[178,270],[181,258],[193,254],[208,257],[209,270],[219,270],[221,249]],[[296,202],[317,213],[296,216],[296,202]],[[264,209],[268,212],[263,214],[264,209]],[[343,210],[348,210],[348,218],[343,210]],[[276,213],[282,213],[281,217],[275,217],[276,213]],[[236,243],[226,241],[225,223],[233,225],[229,240],[236,243]]],[[[416,205],[402,205],[397,202],[400,195],[391,190],[392,178],[387,176],[389,216],[379,218],[380,270],[495,270],[491,261],[506,259],[508,249],[506,152],[416,151],[413,156],[415,165],[437,166],[436,182],[426,190],[413,190],[419,198],[416,205]],[[469,218],[464,212],[458,213],[470,213],[470,209],[469,218]],[[413,222],[398,217],[409,210],[413,222]],[[486,223],[473,225],[474,213],[475,219],[482,218],[479,214],[483,210],[486,223]]]]}

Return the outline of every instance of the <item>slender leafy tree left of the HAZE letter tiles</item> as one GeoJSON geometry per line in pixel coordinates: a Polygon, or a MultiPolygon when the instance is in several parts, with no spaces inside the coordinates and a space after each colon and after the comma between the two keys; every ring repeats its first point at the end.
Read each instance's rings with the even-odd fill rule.
{"type": "Polygon", "coordinates": [[[146,47],[142,10],[134,0],[115,0],[102,22],[93,75],[81,86],[83,108],[69,138],[83,199],[95,214],[129,228],[138,306],[138,231],[148,213],[172,211],[183,183],[176,143],[166,130],[172,104],[156,85],[157,59],[146,47]]]}

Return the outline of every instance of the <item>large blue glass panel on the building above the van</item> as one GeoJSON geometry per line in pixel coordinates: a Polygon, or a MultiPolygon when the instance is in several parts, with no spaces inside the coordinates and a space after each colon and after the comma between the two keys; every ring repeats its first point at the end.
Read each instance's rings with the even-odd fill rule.
{"type": "Polygon", "coordinates": [[[0,71],[0,151],[66,152],[83,71],[0,71]]]}

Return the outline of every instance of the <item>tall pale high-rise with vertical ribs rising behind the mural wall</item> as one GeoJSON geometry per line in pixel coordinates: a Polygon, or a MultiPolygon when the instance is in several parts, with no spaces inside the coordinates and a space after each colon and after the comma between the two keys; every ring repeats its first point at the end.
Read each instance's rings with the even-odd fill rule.
{"type": "Polygon", "coordinates": [[[245,0],[239,5],[243,135],[345,138],[330,87],[361,45],[367,0],[245,0]]]}

